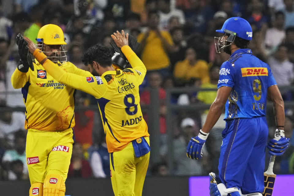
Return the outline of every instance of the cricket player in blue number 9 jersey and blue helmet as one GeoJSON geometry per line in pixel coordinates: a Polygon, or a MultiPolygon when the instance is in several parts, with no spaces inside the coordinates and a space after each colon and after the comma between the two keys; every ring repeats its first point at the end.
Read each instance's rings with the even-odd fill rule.
{"type": "MultiPolygon", "coordinates": [[[[217,97],[211,105],[198,136],[191,138],[187,156],[202,158],[202,147],[225,106],[226,127],[219,159],[219,180],[210,173],[211,196],[262,196],[264,189],[265,148],[268,137],[266,100],[273,101],[277,130],[284,129],[284,102],[269,66],[247,49],[252,40],[248,21],[232,17],[224,22],[215,37],[217,53],[226,52],[230,58],[220,67],[217,97]],[[218,182],[217,182],[218,181],[218,182]]],[[[282,134],[281,134],[282,135],[282,134]]],[[[273,139],[274,140],[274,139],[273,139]]],[[[289,140],[271,140],[272,155],[281,155],[289,140]]]]}

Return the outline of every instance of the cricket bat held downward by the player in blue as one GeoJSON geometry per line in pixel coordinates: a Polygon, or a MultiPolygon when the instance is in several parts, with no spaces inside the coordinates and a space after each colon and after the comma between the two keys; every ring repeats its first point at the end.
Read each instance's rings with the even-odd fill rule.
{"type": "Polygon", "coordinates": [[[276,156],[270,156],[269,168],[266,172],[263,173],[264,176],[264,189],[262,192],[263,196],[272,196],[273,195],[273,185],[275,183],[276,176],[273,173],[273,164],[276,156]]]}

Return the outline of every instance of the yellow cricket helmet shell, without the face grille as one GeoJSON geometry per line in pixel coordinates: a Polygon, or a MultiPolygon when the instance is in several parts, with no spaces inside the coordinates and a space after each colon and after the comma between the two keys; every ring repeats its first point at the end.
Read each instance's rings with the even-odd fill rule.
{"type": "Polygon", "coordinates": [[[47,45],[64,45],[64,35],[62,29],[57,25],[48,24],[40,28],[37,36],[37,42],[43,42],[47,45]]]}

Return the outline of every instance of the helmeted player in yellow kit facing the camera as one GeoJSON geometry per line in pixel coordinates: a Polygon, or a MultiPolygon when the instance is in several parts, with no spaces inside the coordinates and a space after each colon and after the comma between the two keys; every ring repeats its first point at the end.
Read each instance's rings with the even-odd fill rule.
{"type": "MultiPolygon", "coordinates": [[[[92,76],[62,59],[62,56],[66,58],[62,47],[66,43],[57,25],[43,26],[38,33],[37,44],[59,69],[92,76]]],[[[64,182],[74,143],[75,89],[55,80],[36,59],[33,66],[34,71],[27,68],[22,72],[18,68],[11,76],[13,87],[21,88],[25,103],[26,157],[31,182],[29,195],[64,196],[64,182]]]]}

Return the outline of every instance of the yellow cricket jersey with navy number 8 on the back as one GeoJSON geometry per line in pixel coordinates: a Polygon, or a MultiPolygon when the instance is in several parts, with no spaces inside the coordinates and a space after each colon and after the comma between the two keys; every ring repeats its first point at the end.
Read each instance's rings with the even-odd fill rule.
{"type": "Polygon", "coordinates": [[[122,51],[133,68],[106,71],[101,77],[67,73],[50,60],[43,63],[57,81],[97,99],[109,153],[122,150],[137,138],[149,136],[139,104],[139,85],[146,68],[129,46],[123,46],[122,51]]]}

